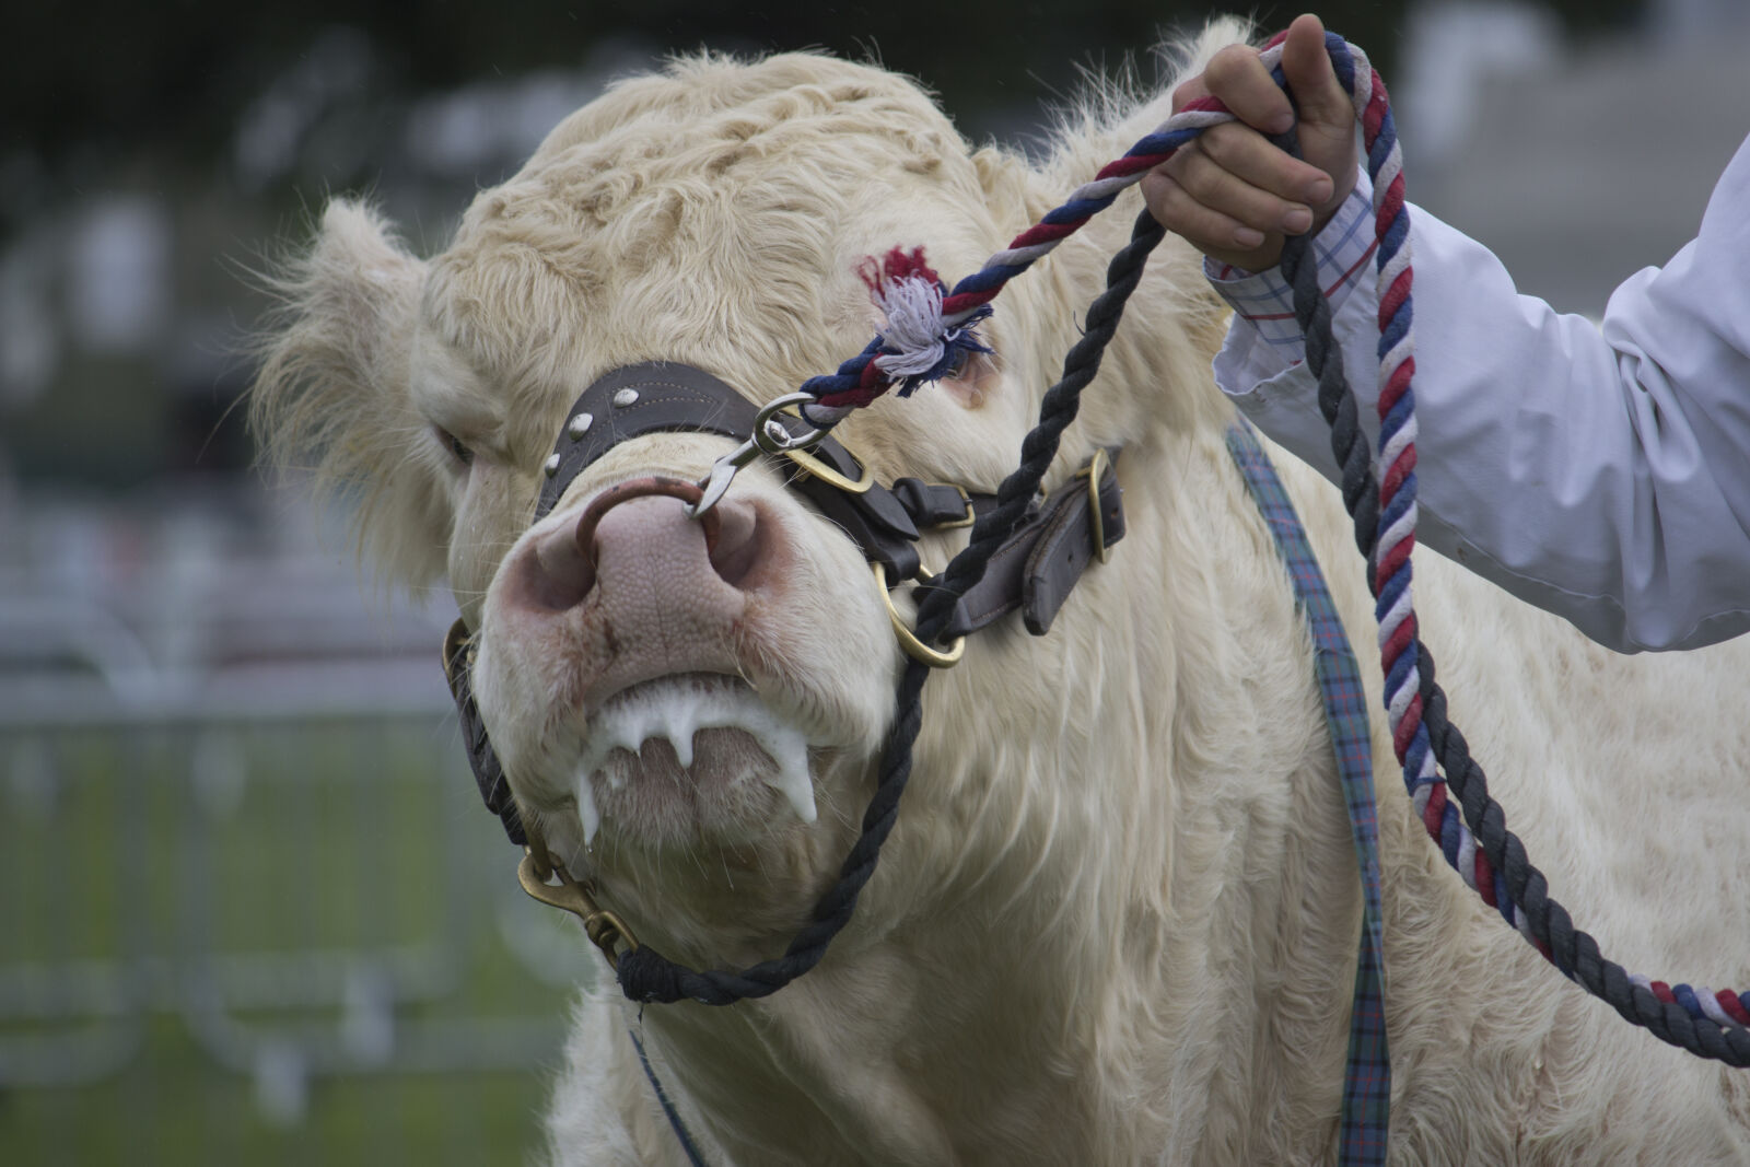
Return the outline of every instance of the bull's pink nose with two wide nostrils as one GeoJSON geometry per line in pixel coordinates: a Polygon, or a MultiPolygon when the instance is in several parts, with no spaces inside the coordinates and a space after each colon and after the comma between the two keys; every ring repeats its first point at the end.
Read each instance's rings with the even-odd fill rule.
{"type": "Polygon", "coordinates": [[[695,520],[686,504],[696,495],[693,483],[668,478],[602,492],[574,523],[534,541],[514,595],[525,605],[565,611],[600,590],[597,600],[609,609],[651,614],[667,602],[733,618],[735,611],[710,611],[740,607],[740,586],[758,560],[758,514],[740,499],[723,499],[695,520]]]}

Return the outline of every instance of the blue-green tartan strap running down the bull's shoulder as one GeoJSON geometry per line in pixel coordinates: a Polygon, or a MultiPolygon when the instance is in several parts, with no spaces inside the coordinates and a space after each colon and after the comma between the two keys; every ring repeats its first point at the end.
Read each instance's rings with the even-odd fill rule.
{"type": "Polygon", "coordinates": [[[1342,632],[1325,576],[1307,544],[1300,516],[1251,427],[1236,422],[1227,450],[1246,479],[1276,551],[1295,586],[1295,604],[1312,632],[1312,668],[1325,702],[1325,724],[1337,756],[1342,801],[1349,810],[1354,857],[1362,871],[1362,941],[1354,962],[1354,1001],[1349,1011],[1349,1055],[1342,1085],[1340,1164],[1356,1167],[1386,1160],[1391,1120],[1391,1053],[1386,1048],[1386,1006],[1381,987],[1379,824],[1374,812],[1372,744],[1362,672],[1342,632]]]}

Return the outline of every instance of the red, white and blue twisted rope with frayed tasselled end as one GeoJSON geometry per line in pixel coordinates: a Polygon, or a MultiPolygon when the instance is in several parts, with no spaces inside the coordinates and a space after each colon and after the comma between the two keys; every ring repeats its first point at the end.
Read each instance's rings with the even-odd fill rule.
{"type": "MultiPolygon", "coordinates": [[[[1260,51],[1264,65],[1283,84],[1281,45],[1278,33],[1260,51]]],[[[1416,399],[1412,380],[1416,373],[1414,332],[1414,273],[1410,266],[1410,227],[1405,205],[1404,154],[1398,145],[1391,115],[1391,100],[1384,79],[1374,70],[1367,54],[1335,33],[1326,33],[1326,49],[1337,80],[1349,94],[1362,140],[1367,149],[1368,175],[1374,182],[1374,229],[1377,238],[1376,266],[1379,273],[1379,495],[1377,495],[1377,556],[1370,588],[1376,597],[1379,621],[1379,656],[1384,672],[1384,703],[1391,728],[1393,751],[1404,768],[1416,812],[1424,829],[1440,847],[1447,863],[1460,873],[1489,906],[1519,929],[1538,952],[1572,980],[1580,980],[1564,968],[1550,947],[1533,934],[1526,910],[1507,894],[1484,849],[1466,828],[1460,808],[1447,796],[1428,726],[1423,721],[1423,668],[1418,644],[1418,619],[1412,605],[1410,553],[1416,546],[1416,399]]],[[[854,409],[863,408],[898,387],[901,395],[917,385],[940,376],[952,366],[956,348],[978,348],[975,325],[990,311],[990,303],[1003,287],[1048,255],[1062,240],[1074,234],[1094,215],[1116,201],[1118,194],[1134,185],[1150,170],[1195,140],[1204,129],[1234,121],[1234,115],[1214,98],[1199,98],[1169,117],[1158,129],[1141,138],[1124,157],[1108,163],[1090,182],[1078,187],[1068,201],[1048,212],[1038,224],[1015,236],[1010,245],[990,255],[984,268],[962,278],[947,290],[928,273],[934,296],[910,297],[914,304],[903,327],[889,327],[887,336],[877,336],[870,345],[845,360],[831,376],[810,378],[802,392],[816,397],[803,406],[803,416],[817,429],[831,429],[854,409]],[[917,306],[922,303],[922,308],[917,306]],[[919,317],[919,313],[922,313],[919,317]],[[924,336],[929,352],[919,355],[924,336]],[[905,343],[900,343],[900,341],[905,343]],[[919,371],[922,369],[922,373],[919,371]]],[[[919,271],[903,266],[887,271],[896,285],[919,271]]],[[[872,290],[882,296],[882,287],[872,290]]],[[[1715,1022],[1729,1029],[1750,1029],[1750,994],[1729,989],[1713,992],[1690,985],[1668,985],[1645,976],[1629,976],[1654,994],[1661,1003],[1675,1003],[1694,1020],[1715,1022]]]]}

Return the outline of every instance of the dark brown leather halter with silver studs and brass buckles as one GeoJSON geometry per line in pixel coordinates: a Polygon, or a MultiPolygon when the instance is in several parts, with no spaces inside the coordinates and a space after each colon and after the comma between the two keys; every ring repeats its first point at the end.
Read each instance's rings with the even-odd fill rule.
{"type": "MultiPolygon", "coordinates": [[[[567,413],[553,455],[542,467],[546,483],[541,486],[534,521],[546,518],[578,474],[620,443],[663,432],[719,434],[740,441],[752,432],[758,413],[730,385],[688,364],[651,360],[614,369],[583,390],[567,413]]],[[[791,432],[807,429],[800,418],[788,415],[777,415],[775,420],[791,432]]],[[[1104,560],[1108,548],[1124,539],[1124,492],[1118,488],[1115,457],[1115,450],[1096,450],[1068,483],[1034,502],[990,556],[984,579],[956,604],[954,618],[943,632],[947,639],[976,632],[1017,607],[1027,632],[1045,635],[1050,630],[1088,562],[1104,560]]],[[[980,513],[996,506],[996,495],[970,493],[961,486],[917,478],[882,486],[873,481],[866,464],[833,437],[777,460],[788,464],[784,485],[861,548],[887,590],[906,579],[928,586],[929,577],[922,572],[915,546],[920,530],[970,527],[980,513]]],[[[952,663],[917,644],[891,602],[887,611],[908,653],[938,656],[938,665],[952,663]]],[[[472,656],[472,635],[457,619],[444,637],[443,663],[462,723],[462,744],[486,808],[499,815],[504,833],[522,847],[527,833],[474,703],[472,656]]]]}

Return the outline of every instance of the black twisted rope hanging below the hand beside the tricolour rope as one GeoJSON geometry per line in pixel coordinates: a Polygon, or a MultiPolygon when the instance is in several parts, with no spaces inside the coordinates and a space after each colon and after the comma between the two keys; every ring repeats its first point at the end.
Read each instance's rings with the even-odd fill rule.
{"type": "MultiPolygon", "coordinates": [[[[1279,143],[1290,149],[1292,136],[1290,131],[1284,135],[1288,142],[1279,143]]],[[[1298,150],[1290,152],[1298,157],[1298,150]]],[[[1367,588],[1377,600],[1379,583],[1372,567],[1379,555],[1379,488],[1368,441],[1356,420],[1354,394],[1332,334],[1330,304],[1320,292],[1311,241],[1290,236],[1283,245],[1281,266],[1293,287],[1295,320],[1306,334],[1307,369],[1318,378],[1318,406],[1330,425],[1330,450],[1342,469],[1342,504],[1354,520],[1354,542],[1368,560],[1367,588]]],[[[1447,789],[1458,798],[1470,833],[1505,884],[1507,894],[1526,913],[1531,936],[1549,948],[1556,968],[1661,1041],[1727,1066],[1750,1066],[1750,1031],[1712,1020],[1698,1022],[1684,1006],[1659,1001],[1652,990],[1631,982],[1620,964],[1606,961],[1598,941],[1577,929],[1568,910],[1550,898],[1549,880],[1531,864],[1519,836],[1507,829],[1507,815],[1489,798],[1482,766],[1470,756],[1465,735],[1446,716],[1446,693],[1433,679],[1433,654],[1421,635],[1416,635],[1414,646],[1421,670],[1423,724],[1446,773],[1447,789]]]]}

